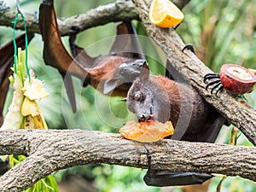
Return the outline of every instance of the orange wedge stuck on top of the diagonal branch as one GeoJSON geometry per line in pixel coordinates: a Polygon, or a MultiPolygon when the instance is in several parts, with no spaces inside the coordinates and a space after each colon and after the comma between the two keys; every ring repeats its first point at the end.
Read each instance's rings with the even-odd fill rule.
{"type": "Polygon", "coordinates": [[[177,26],[184,18],[183,12],[169,0],[154,0],[149,9],[149,20],[156,26],[177,26]]]}

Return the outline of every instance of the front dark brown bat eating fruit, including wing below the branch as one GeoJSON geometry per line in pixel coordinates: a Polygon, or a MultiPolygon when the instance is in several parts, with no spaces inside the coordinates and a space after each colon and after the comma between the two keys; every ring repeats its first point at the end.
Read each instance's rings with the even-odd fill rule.
{"type": "MultiPolygon", "coordinates": [[[[172,138],[183,141],[213,143],[225,122],[224,117],[188,84],[149,75],[146,62],[128,91],[126,103],[127,108],[137,114],[139,121],[154,119],[165,123],[171,120],[175,128],[172,138]]],[[[149,170],[144,180],[148,185],[170,186],[202,183],[210,177],[195,172],[149,170]]]]}

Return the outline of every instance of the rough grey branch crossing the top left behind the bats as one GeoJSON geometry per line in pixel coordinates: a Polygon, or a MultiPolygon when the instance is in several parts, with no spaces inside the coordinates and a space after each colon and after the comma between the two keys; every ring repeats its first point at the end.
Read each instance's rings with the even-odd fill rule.
{"type": "MultiPolygon", "coordinates": [[[[182,9],[189,0],[174,0],[174,3],[182,9]]],[[[13,27],[12,20],[15,20],[16,9],[9,9],[0,4],[0,26],[13,27]]],[[[40,33],[37,14],[24,14],[26,17],[26,29],[29,32],[40,33]]],[[[90,9],[85,14],[75,15],[68,18],[59,18],[57,20],[61,36],[67,36],[71,33],[72,26],[79,26],[80,32],[94,27],[122,20],[139,20],[137,9],[131,1],[118,0],[115,3],[99,6],[96,9],[90,9]]],[[[17,23],[16,29],[24,30],[23,22],[17,23]]]]}

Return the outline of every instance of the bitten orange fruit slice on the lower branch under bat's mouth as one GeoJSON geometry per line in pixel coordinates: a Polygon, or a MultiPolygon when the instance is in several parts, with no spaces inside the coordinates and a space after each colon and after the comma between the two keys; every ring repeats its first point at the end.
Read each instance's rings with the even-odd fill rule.
{"type": "Polygon", "coordinates": [[[121,136],[141,143],[152,143],[173,134],[171,121],[165,124],[158,121],[141,122],[128,121],[120,130],[121,136]]]}

